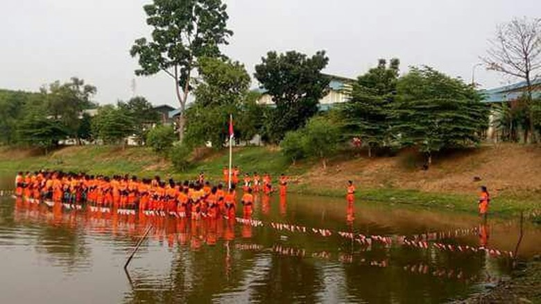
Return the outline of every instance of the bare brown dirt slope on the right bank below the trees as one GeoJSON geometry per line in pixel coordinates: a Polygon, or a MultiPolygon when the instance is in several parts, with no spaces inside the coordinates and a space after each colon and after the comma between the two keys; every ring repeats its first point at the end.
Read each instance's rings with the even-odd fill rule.
{"type": "Polygon", "coordinates": [[[302,182],[343,188],[348,179],[360,187],[398,187],[425,192],[475,191],[487,185],[496,192],[541,192],[541,148],[499,144],[440,155],[432,167],[420,169],[418,153],[395,157],[334,162],[327,170],[315,167],[302,182]],[[474,182],[474,177],[481,181],[474,182]]]}

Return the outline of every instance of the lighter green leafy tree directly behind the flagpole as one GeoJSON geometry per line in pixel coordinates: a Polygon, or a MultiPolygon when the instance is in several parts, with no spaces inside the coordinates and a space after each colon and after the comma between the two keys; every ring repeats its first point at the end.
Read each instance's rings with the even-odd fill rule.
{"type": "Polygon", "coordinates": [[[212,142],[220,149],[229,138],[230,115],[237,121],[243,101],[248,100],[250,76],[239,62],[202,58],[200,63],[196,101],[186,111],[186,142],[191,146],[212,142]]]}

